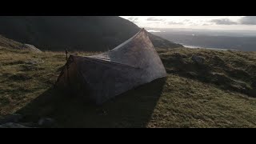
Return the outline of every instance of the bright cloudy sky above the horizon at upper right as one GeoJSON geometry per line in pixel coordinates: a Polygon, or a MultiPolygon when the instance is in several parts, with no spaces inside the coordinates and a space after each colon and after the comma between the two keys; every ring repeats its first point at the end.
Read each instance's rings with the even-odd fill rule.
{"type": "Polygon", "coordinates": [[[256,30],[256,16],[120,16],[145,28],[256,30]]]}

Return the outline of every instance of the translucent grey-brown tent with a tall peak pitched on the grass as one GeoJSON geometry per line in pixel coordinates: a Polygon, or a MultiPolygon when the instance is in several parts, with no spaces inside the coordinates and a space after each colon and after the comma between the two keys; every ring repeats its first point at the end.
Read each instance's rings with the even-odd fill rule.
{"type": "Polygon", "coordinates": [[[163,77],[166,77],[166,70],[148,32],[142,29],[105,53],[85,57],[70,55],[55,86],[102,104],[136,86],[163,77]]]}

